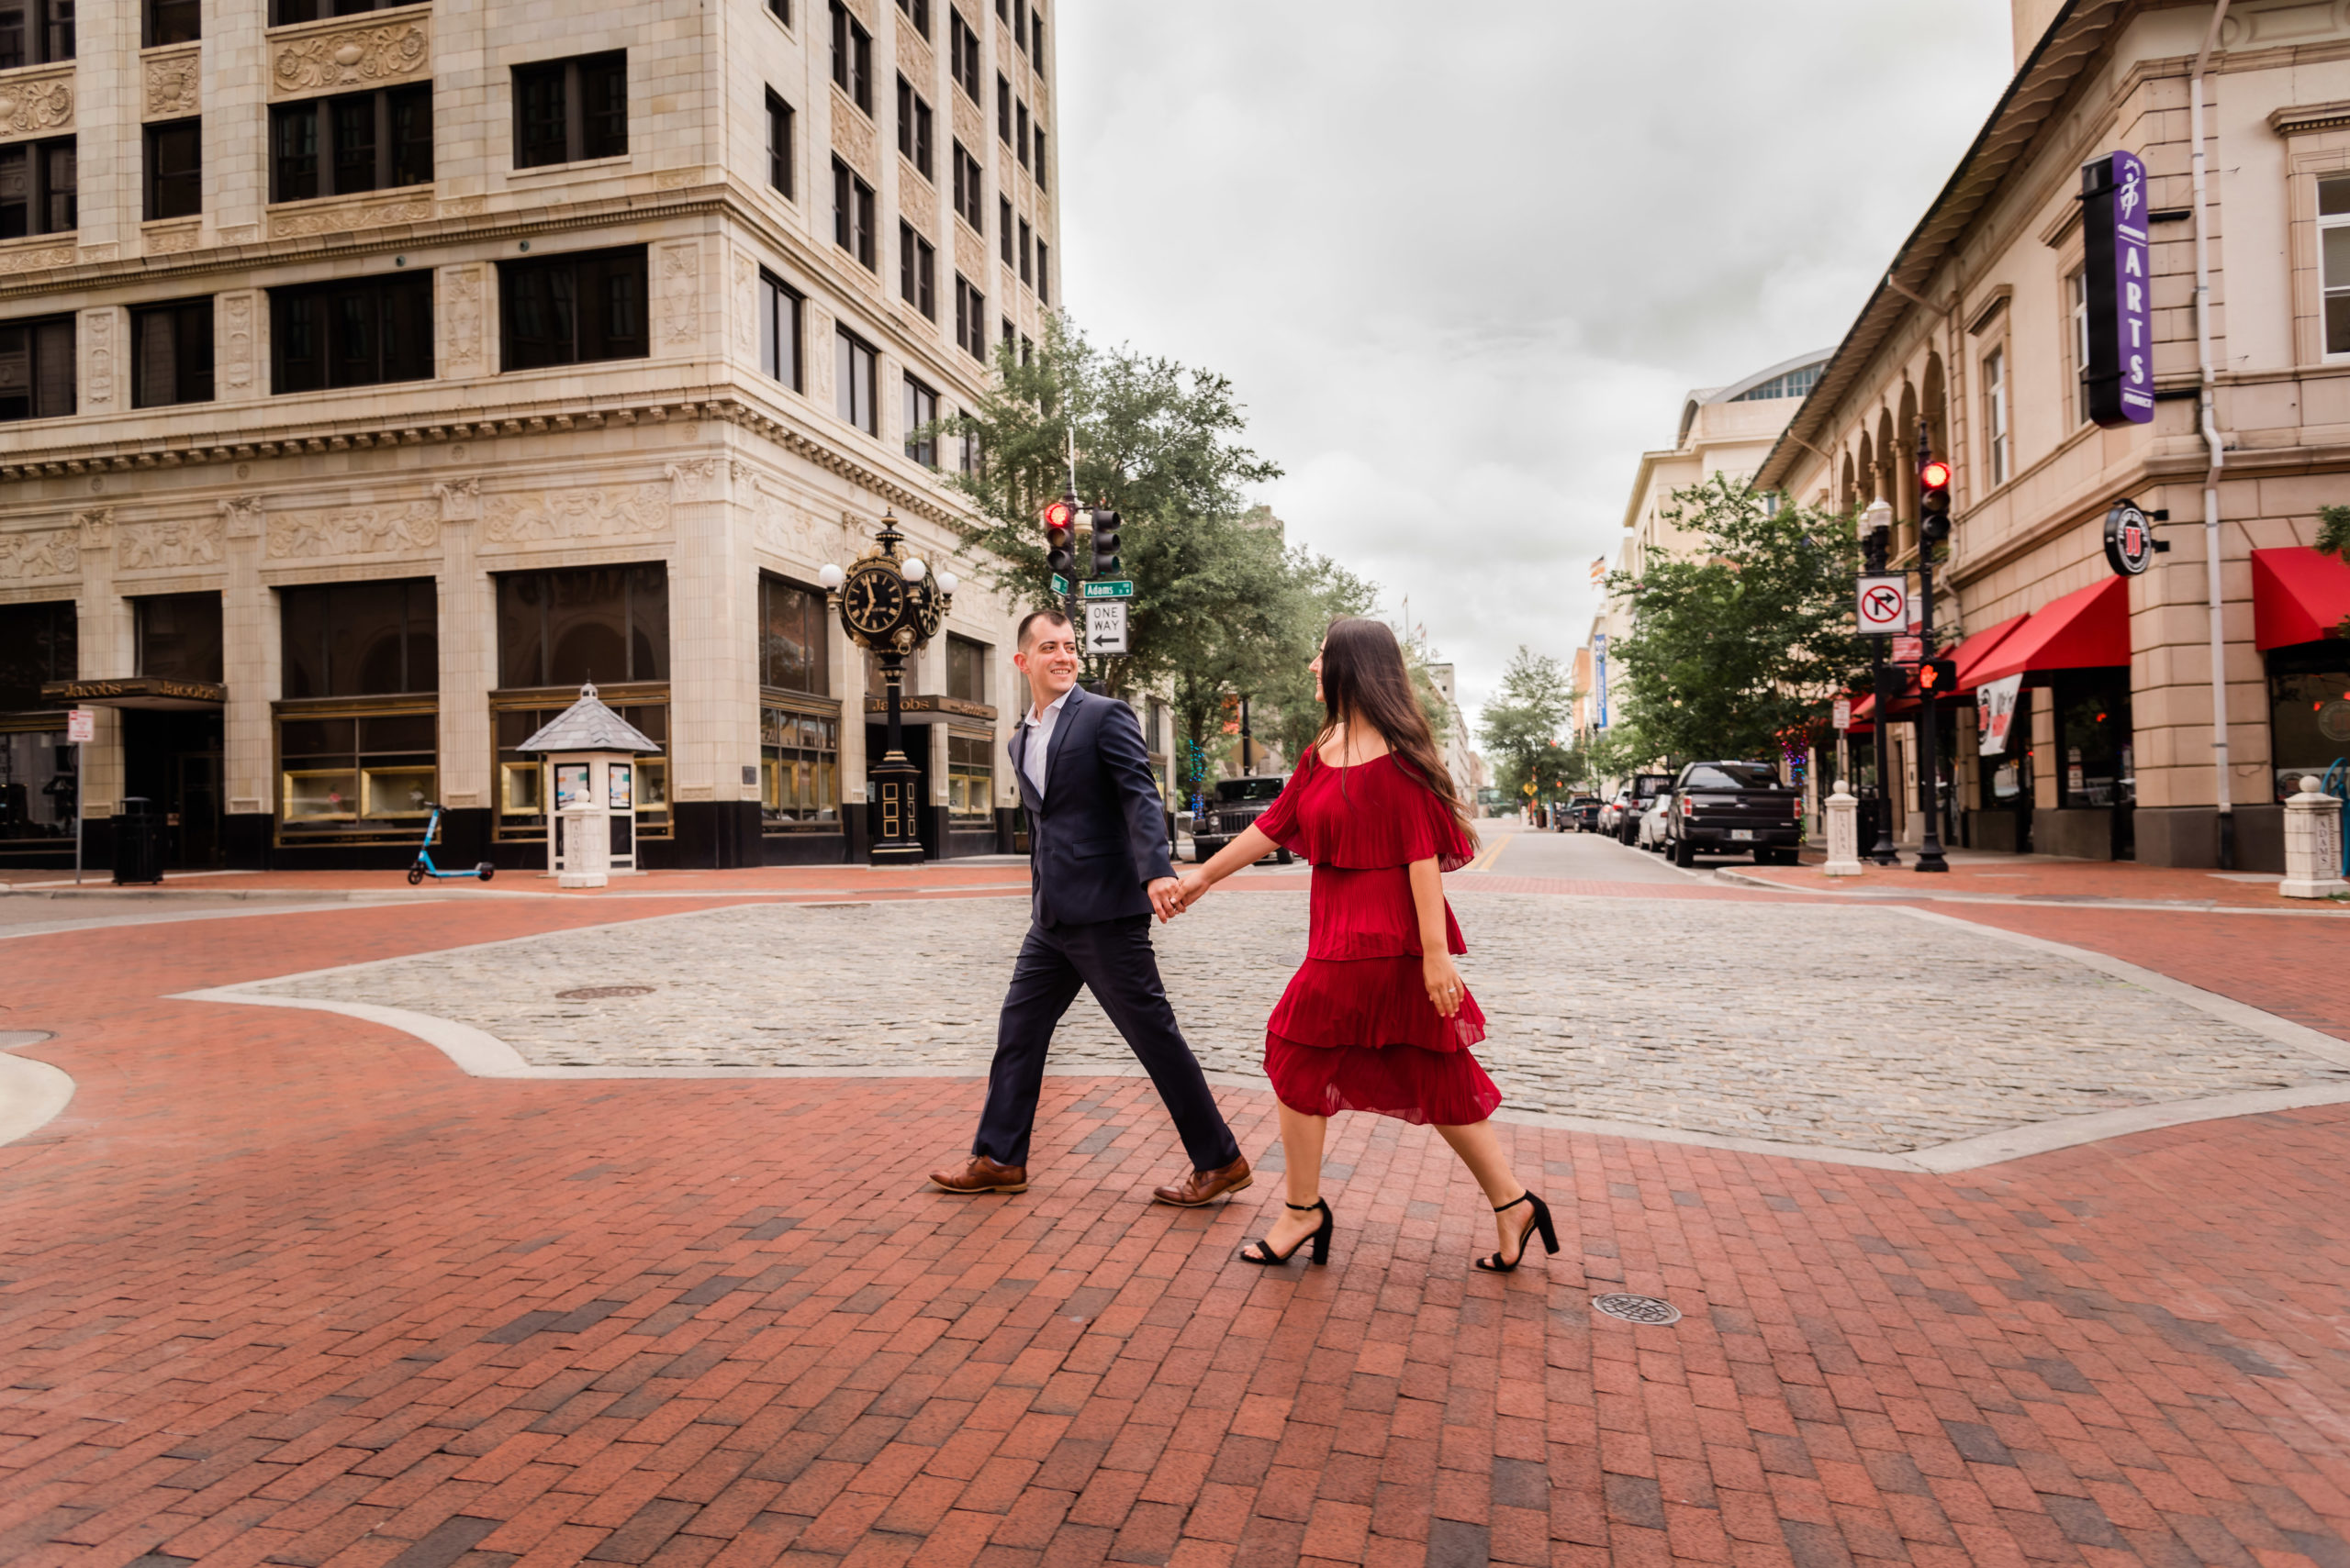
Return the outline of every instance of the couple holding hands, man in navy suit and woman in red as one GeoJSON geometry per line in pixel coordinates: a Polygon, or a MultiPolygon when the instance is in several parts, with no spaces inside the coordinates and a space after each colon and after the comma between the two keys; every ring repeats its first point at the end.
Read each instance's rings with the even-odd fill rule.
{"type": "Polygon", "coordinates": [[[1013,655],[1032,707],[1010,742],[1029,810],[1029,932],[996,1026],[987,1106],[966,1164],[933,1171],[947,1192],[1027,1190],[1029,1129],[1053,1028],[1090,988],[1166,1103],[1191,1174],[1156,1188],[1196,1209],[1250,1185],[1248,1160],[1159,984],[1149,918],[1196,904],[1276,847],[1314,864],[1307,960],[1274,1007],[1264,1075],[1281,1101],[1288,1204],[1243,1263],[1288,1263],[1311,1244],[1328,1263],[1337,1225],[1321,1195],[1335,1110],[1431,1122],[1495,1209],[1499,1251],[1476,1268],[1518,1268],[1551,1211],[1509,1169],[1495,1138],[1502,1091],[1469,1047],[1485,1014],[1452,967],[1466,953],[1438,876],[1476,854],[1469,812],[1412,697],[1396,634],[1337,620],[1314,660],[1328,721],[1288,789],[1206,866],[1175,873],[1166,817],[1133,709],[1076,685],[1079,641],[1058,610],[1020,622],[1013,655]]]}

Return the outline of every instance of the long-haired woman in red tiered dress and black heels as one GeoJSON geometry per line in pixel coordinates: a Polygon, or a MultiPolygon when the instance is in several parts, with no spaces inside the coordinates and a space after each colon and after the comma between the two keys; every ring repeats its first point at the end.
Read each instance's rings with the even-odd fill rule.
{"type": "Polygon", "coordinates": [[[1314,660],[1328,721],[1281,798],[1206,866],[1182,873],[1189,908],[1215,883],[1276,847],[1314,864],[1307,960],[1264,1026],[1264,1075],[1281,1101],[1288,1214],[1246,1263],[1288,1263],[1314,1244],[1330,1258],[1335,1216],[1321,1197],[1323,1134],[1335,1110],[1434,1124],[1495,1209],[1502,1251],[1480,1270],[1518,1268],[1549,1207],[1509,1169],[1488,1120],[1502,1103],[1469,1047],[1485,1014],[1452,967],[1466,953],[1438,873],[1476,857],[1469,812],[1412,695],[1396,634],[1340,620],[1314,660]]]}

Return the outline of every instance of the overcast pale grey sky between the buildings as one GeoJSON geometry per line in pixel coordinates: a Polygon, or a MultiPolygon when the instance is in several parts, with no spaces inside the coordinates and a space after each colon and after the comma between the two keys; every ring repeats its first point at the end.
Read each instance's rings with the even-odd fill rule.
{"type": "Polygon", "coordinates": [[[1074,319],[1231,376],[1290,542],[1408,594],[1471,716],[1582,643],[1683,392],[1842,338],[2012,63],[2005,0],[1053,19],[1074,319]]]}

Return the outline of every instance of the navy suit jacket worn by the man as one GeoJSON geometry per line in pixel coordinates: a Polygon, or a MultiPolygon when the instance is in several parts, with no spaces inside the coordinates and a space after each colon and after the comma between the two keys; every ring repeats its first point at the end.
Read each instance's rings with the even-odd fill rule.
{"type": "Polygon", "coordinates": [[[1152,913],[1144,892],[1168,861],[1166,805],[1135,711],[1069,688],[1053,723],[1043,796],[1022,768],[1032,730],[1013,735],[1013,775],[1029,810],[1029,908],[1036,925],[1152,913]]]}

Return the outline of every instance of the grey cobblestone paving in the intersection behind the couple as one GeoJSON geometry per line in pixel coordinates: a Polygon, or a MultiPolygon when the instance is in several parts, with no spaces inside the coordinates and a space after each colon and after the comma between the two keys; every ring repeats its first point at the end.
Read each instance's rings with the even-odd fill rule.
{"type": "MultiPolygon", "coordinates": [[[[1955,922],[1887,908],[1466,892],[1480,1059],[1511,1113],[1908,1153],[2162,1101],[2350,1084],[2331,1059],[1955,922]],[[1894,998],[1887,1005],[1887,998],[1894,998]]],[[[256,986],[456,1019],[536,1066],[980,1073],[1025,922],[1015,899],[733,906],[256,986]],[[877,1007],[874,955],[902,984],[877,1007]],[[644,995],[564,1000],[602,986],[644,995]]],[[[1159,927],[1210,1070],[1262,1082],[1264,1016],[1304,955],[1304,894],[1159,927]]],[[[1060,1068],[1133,1059],[1081,998],[1060,1068]]]]}

